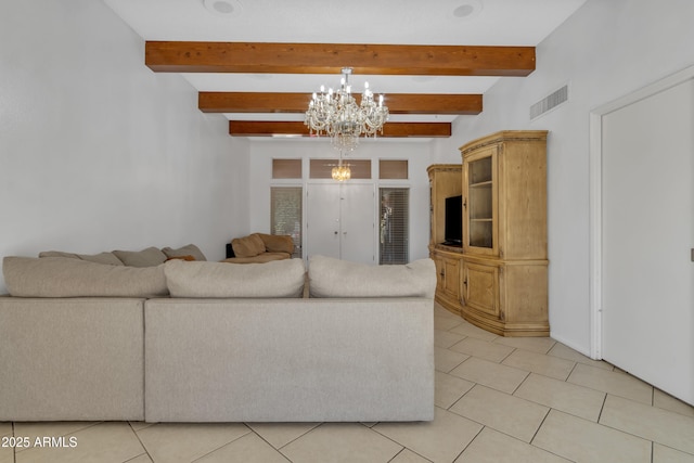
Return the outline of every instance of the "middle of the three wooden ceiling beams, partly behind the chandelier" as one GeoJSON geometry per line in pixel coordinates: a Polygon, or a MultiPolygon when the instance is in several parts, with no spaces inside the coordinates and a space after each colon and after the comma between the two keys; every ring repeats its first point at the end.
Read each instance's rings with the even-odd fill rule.
{"type": "MultiPolygon", "coordinates": [[[[356,95],[357,102],[361,100],[356,95]]],[[[306,113],[308,93],[200,92],[197,105],[204,113],[306,113]]],[[[481,113],[481,94],[386,94],[390,114],[481,113]]]]}

